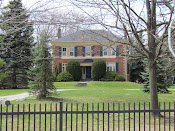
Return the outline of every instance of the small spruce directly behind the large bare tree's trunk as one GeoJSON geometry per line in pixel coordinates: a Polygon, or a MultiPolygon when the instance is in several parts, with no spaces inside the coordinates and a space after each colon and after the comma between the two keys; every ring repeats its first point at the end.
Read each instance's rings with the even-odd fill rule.
{"type": "MultiPolygon", "coordinates": [[[[145,61],[146,62],[146,61],[145,61]]],[[[159,93],[168,93],[169,83],[168,83],[168,73],[166,64],[168,63],[168,60],[165,58],[160,59],[157,61],[157,91],[159,93]]],[[[149,92],[149,73],[148,68],[146,67],[145,73],[142,73],[142,78],[144,79],[143,83],[143,91],[149,92]]]]}

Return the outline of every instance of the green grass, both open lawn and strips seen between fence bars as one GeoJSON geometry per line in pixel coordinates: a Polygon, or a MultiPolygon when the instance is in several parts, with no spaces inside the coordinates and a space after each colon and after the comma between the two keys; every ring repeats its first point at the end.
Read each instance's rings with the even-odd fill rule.
{"type": "MultiPolygon", "coordinates": [[[[138,103],[141,102],[141,106],[142,106],[142,109],[143,109],[143,105],[144,105],[144,102],[146,102],[146,109],[148,109],[148,102],[150,101],[150,95],[148,93],[143,93],[141,91],[142,89],[142,86],[139,85],[139,84],[136,84],[136,83],[131,83],[131,82],[88,82],[87,86],[85,87],[77,87],[75,86],[77,82],[56,82],[55,83],[55,86],[57,89],[77,89],[77,90],[72,90],[72,91],[60,91],[58,92],[59,93],[59,96],[57,95],[53,95],[52,97],[58,97],[58,101],[51,101],[51,100],[36,100],[35,97],[29,97],[27,100],[25,101],[12,101],[11,103],[14,104],[14,112],[17,111],[17,104],[20,104],[19,106],[19,111],[23,111],[23,104],[25,104],[25,111],[28,111],[29,110],[29,104],[30,104],[30,111],[33,111],[34,110],[34,104],[36,104],[36,111],[39,111],[40,110],[40,104],[41,104],[41,110],[42,111],[45,111],[45,104],[47,104],[47,111],[49,111],[51,109],[51,106],[52,106],[52,110],[55,111],[56,108],[55,108],[55,104],[57,102],[59,102],[59,99],[60,101],[63,101],[64,102],[64,110],[65,110],[65,107],[66,107],[66,103],[68,103],[68,110],[71,110],[71,104],[70,103],[78,103],[79,104],[79,107],[78,107],[78,110],[87,110],[87,105],[85,104],[84,105],[84,108],[83,108],[83,103],[90,103],[89,104],[89,110],[92,109],[92,103],[95,103],[94,104],[94,109],[97,110],[97,104],[96,103],[100,103],[100,107],[99,109],[102,110],[102,103],[104,103],[105,105],[105,110],[108,109],[107,107],[107,104],[109,103],[110,104],[110,110],[113,108],[112,107],[112,103],[116,103],[115,105],[115,109],[118,109],[118,103],[121,103],[121,107],[120,107],[120,110],[123,109],[122,105],[123,103],[126,103],[126,107],[125,109],[127,110],[129,107],[128,107],[128,103],[131,103],[130,105],[130,108],[131,110],[134,108],[133,106],[133,103],[135,102],[136,103],[136,109],[138,109],[138,103]],[[127,89],[138,89],[138,90],[127,90],[127,89]]],[[[175,89],[174,87],[171,87],[172,89],[175,89]]],[[[7,91],[6,91],[7,92],[7,91]]],[[[15,93],[16,93],[16,90],[15,90],[15,93]]],[[[159,96],[159,101],[160,102],[171,102],[173,103],[174,102],[174,98],[175,98],[175,91],[172,91],[171,94],[158,94],[159,96]]],[[[161,107],[163,108],[163,104],[161,104],[161,107]]],[[[168,108],[168,104],[166,104],[166,109],[168,108]]],[[[172,104],[173,106],[173,104],[172,104]]],[[[58,106],[57,106],[58,110],[59,110],[59,103],[58,103],[58,106]]],[[[173,107],[171,107],[173,108],[173,107]]],[[[77,107],[76,107],[76,104],[73,104],[73,107],[72,109],[75,111],[77,110],[77,107]]],[[[10,106],[8,108],[8,111],[11,111],[12,110],[12,107],[10,106]]],[[[3,107],[3,111],[6,111],[6,108],[3,107]]],[[[118,115],[119,114],[115,114],[115,122],[117,123],[118,122],[118,115]]],[[[121,116],[121,130],[122,130],[122,127],[123,127],[123,114],[120,114],[121,116]]],[[[147,117],[146,117],[146,123],[147,123],[147,126],[148,126],[148,115],[149,114],[146,114],[147,117]]],[[[84,115],[84,127],[83,128],[86,128],[86,120],[87,120],[87,115],[85,114],[84,115]]],[[[168,116],[168,114],[166,115],[168,116]]],[[[76,115],[73,115],[73,117],[71,118],[71,115],[68,114],[67,116],[67,120],[68,120],[68,127],[70,127],[70,121],[71,119],[74,120],[74,124],[73,124],[73,130],[75,129],[75,119],[78,119],[78,125],[81,125],[81,120],[82,120],[82,115],[79,114],[78,115],[78,118],[76,117],[76,115]]],[[[108,119],[108,114],[106,114],[104,116],[105,118],[105,130],[107,130],[107,119],[108,119]]],[[[112,130],[112,124],[113,124],[113,115],[112,114],[109,114],[109,117],[110,117],[110,127],[111,127],[111,130],[112,130]]],[[[128,114],[125,115],[125,122],[126,122],[126,130],[128,130],[128,123],[129,123],[129,119],[128,119],[128,114]]],[[[137,120],[136,120],[136,127],[138,127],[138,114],[136,114],[136,117],[137,117],[137,120]]],[[[34,116],[31,115],[30,116],[30,119],[31,119],[31,129],[32,128],[32,123],[33,123],[33,118],[34,116]]],[[[44,130],[44,122],[45,122],[45,116],[42,115],[42,120],[41,120],[41,130],[44,130]]],[[[52,118],[50,115],[47,115],[46,116],[47,118],[47,123],[50,124],[50,122],[52,123],[53,127],[52,127],[52,130],[55,130],[55,115],[52,115],[52,118]]],[[[94,120],[95,120],[95,130],[97,129],[97,114],[94,115],[94,120]]],[[[133,123],[133,114],[131,114],[131,123],[133,123]]],[[[143,113],[141,114],[141,118],[143,118],[143,113]]],[[[3,120],[5,120],[5,116],[3,117],[3,120]]],[[[20,118],[19,118],[19,129],[22,130],[22,122],[23,122],[23,116],[21,115],[20,118]]],[[[28,115],[25,115],[25,128],[27,130],[27,127],[28,127],[28,115]]],[[[65,119],[66,119],[66,116],[64,115],[64,125],[65,125],[65,119]]],[[[17,121],[17,116],[14,116],[14,120],[16,123],[17,121]]],[[[99,121],[100,121],[100,130],[102,130],[102,115],[100,116],[99,118],[99,121]]],[[[142,124],[143,124],[143,119],[142,120],[142,124]]],[[[58,117],[58,121],[59,121],[59,117],[58,117]]],[[[154,123],[153,121],[153,118],[151,120],[151,124],[154,123]]],[[[161,120],[161,123],[164,122],[164,119],[161,120]]],[[[5,129],[5,121],[3,121],[3,128],[5,129]]],[[[11,124],[11,116],[9,116],[9,119],[8,119],[8,123],[9,125],[11,124]]],[[[40,123],[39,121],[39,115],[36,115],[36,125],[38,126],[40,123]]],[[[89,123],[92,123],[92,114],[89,114],[89,123]]],[[[158,122],[157,122],[158,123],[158,122]]],[[[59,122],[57,123],[59,124],[59,122]]],[[[131,124],[133,125],[133,124],[131,124]]],[[[168,124],[167,124],[168,125],[168,124]]],[[[92,125],[89,125],[90,129],[92,128],[92,125]]],[[[161,127],[163,128],[163,124],[161,125],[161,127]]],[[[14,129],[17,128],[16,125],[14,125],[14,129]]],[[[49,130],[49,126],[47,126],[47,130],[49,130]]],[[[79,127],[80,128],[80,127],[79,127]]],[[[117,124],[116,124],[116,128],[115,130],[117,130],[117,124]]],[[[153,125],[151,126],[151,128],[153,128],[153,125]]],[[[10,126],[9,126],[9,129],[10,129],[10,126]]],[[[38,127],[37,127],[38,129],[38,127]]],[[[136,128],[137,129],[137,128],[136,128]]],[[[158,128],[157,128],[158,129],[158,128]]],[[[172,127],[173,129],[173,127],[172,127]]],[[[69,129],[68,129],[69,130],[69,129]]],[[[80,129],[78,129],[80,130],[80,129]]]]}

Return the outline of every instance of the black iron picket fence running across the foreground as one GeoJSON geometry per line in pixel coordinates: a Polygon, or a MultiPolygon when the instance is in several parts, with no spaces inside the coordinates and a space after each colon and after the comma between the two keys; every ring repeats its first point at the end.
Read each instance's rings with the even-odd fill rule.
{"type": "Polygon", "coordinates": [[[175,131],[175,103],[0,106],[0,131],[175,131]],[[154,115],[156,114],[156,115],[154,115]]]}

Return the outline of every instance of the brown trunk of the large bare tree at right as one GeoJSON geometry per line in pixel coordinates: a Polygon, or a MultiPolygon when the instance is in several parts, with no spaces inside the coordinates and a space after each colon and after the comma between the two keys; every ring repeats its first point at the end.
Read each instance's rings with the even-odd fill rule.
{"type": "MultiPolygon", "coordinates": [[[[149,86],[150,86],[150,98],[151,109],[158,109],[158,95],[157,95],[157,64],[156,64],[156,48],[157,43],[155,40],[156,35],[156,0],[146,0],[147,6],[147,18],[148,18],[148,63],[149,63],[149,86]]],[[[156,113],[157,114],[157,113],[156,113]]]]}

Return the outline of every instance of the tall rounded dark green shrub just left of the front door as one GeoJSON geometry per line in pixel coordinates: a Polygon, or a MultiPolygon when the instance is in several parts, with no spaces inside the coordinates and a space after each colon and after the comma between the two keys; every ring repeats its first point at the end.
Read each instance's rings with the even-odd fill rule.
{"type": "Polygon", "coordinates": [[[81,79],[81,68],[78,60],[70,60],[66,65],[66,71],[69,72],[75,81],[81,79]]]}

